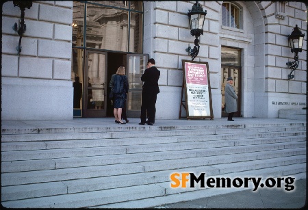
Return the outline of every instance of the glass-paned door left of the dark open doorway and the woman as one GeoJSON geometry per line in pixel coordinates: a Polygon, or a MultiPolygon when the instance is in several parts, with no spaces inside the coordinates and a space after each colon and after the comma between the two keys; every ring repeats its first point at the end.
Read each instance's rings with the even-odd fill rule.
{"type": "Polygon", "coordinates": [[[106,116],[107,53],[86,51],[84,67],[84,114],[86,118],[106,116]]]}

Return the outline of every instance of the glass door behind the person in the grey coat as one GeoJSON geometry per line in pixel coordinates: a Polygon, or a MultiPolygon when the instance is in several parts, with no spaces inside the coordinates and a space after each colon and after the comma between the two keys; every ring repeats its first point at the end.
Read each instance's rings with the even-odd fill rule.
{"type": "Polygon", "coordinates": [[[228,114],[224,112],[224,105],[225,105],[225,102],[224,102],[224,87],[226,86],[227,84],[227,78],[228,77],[232,77],[233,78],[233,88],[235,90],[235,93],[236,95],[238,96],[238,99],[237,99],[237,103],[238,103],[238,111],[236,111],[234,113],[234,116],[235,117],[240,117],[241,115],[241,111],[240,111],[240,99],[241,99],[241,96],[240,96],[240,68],[239,67],[234,67],[234,66],[222,66],[221,67],[221,71],[222,71],[222,74],[221,74],[221,94],[222,94],[222,113],[221,113],[221,116],[222,117],[227,117],[228,114]]]}

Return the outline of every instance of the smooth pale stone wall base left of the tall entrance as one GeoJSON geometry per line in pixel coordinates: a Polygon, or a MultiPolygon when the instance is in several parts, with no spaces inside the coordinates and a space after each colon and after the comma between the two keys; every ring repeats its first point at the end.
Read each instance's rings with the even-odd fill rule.
{"type": "Polygon", "coordinates": [[[71,81],[2,77],[1,120],[73,119],[71,81]]]}

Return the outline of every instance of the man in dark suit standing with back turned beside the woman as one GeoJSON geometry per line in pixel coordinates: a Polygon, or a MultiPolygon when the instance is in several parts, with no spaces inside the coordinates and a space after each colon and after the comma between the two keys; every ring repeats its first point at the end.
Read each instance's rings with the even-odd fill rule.
{"type": "Polygon", "coordinates": [[[141,122],[139,124],[144,125],[145,123],[153,125],[155,120],[155,104],[157,94],[159,93],[158,79],[160,71],[155,67],[155,60],[150,58],[148,60],[148,68],[144,70],[141,76],[141,81],[144,81],[142,86],[142,98],[141,98],[141,122]],[[146,114],[148,120],[146,121],[146,114]]]}

